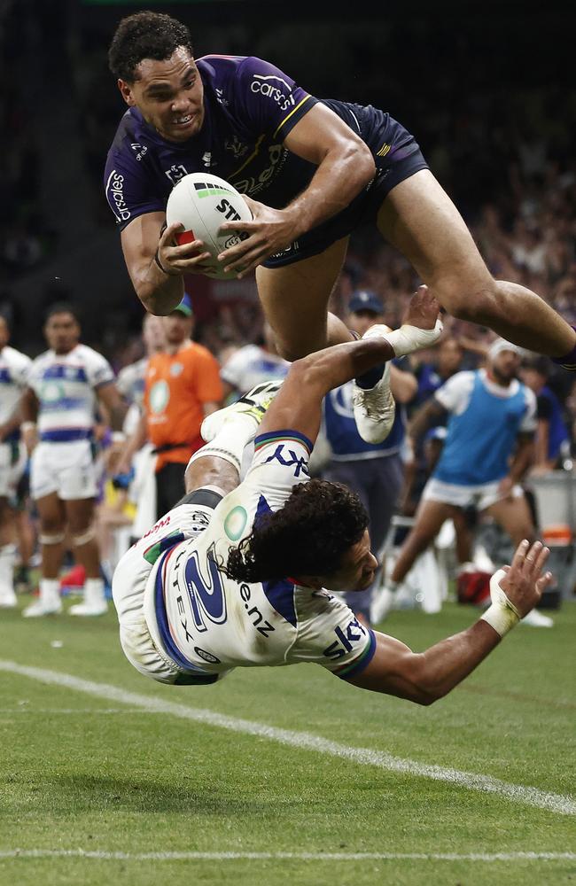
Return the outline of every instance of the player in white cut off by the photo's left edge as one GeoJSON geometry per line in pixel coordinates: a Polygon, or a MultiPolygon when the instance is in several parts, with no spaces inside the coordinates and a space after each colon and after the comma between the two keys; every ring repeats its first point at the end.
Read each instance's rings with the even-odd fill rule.
{"type": "Polygon", "coordinates": [[[8,345],[9,339],[8,323],[0,316],[0,609],[16,605],[16,526],[11,500],[26,466],[17,405],[32,364],[26,354],[8,345]]]}

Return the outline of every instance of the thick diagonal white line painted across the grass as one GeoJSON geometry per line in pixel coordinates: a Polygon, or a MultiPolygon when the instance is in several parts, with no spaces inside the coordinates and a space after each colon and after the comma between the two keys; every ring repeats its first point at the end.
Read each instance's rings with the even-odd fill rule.
{"type": "Polygon", "coordinates": [[[370,750],[370,748],[354,748],[346,744],[331,742],[327,738],[309,732],[295,732],[291,729],[279,729],[268,726],[266,723],[256,723],[253,720],[245,720],[237,717],[228,717],[215,711],[206,711],[203,708],[191,708],[185,704],[167,702],[160,698],[140,695],[136,692],[128,692],[117,686],[106,683],[94,683],[91,680],[82,680],[73,674],[46,671],[43,668],[27,667],[11,661],[0,660],[0,671],[18,673],[22,677],[39,680],[42,683],[50,683],[55,686],[64,686],[74,689],[76,692],[84,692],[89,696],[105,698],[109,702],[121,702],[131,704],[133,707],[154,713],[165,713],[180,719],[190,719],[197,723],[206,723],[208,726],[230,729],[232,732],[248,735],[259,735],[271,742],[289,745],[300,750],[314,750],[322,754],[330,754],[359,763],[362,766],[378,766],[389,772],[417,775],[421,778],[431,778],[435,781],[448,781],[450,784],[469,790],[479,790],[483,793],[496,794],[505,797],[513,803],[525,803],[549,812],[557,812],[559,815],[576,815],[576,800],[563,794],[552,794],[538,788],[526,788],[524,785],[510,784],[507,781],[492,778],[490,775],[462,772],[458,769],[450,769],[445,766],[433,766],[427,763],[418,763],[416,760],[393,757],[384,750],[370,750]]]}

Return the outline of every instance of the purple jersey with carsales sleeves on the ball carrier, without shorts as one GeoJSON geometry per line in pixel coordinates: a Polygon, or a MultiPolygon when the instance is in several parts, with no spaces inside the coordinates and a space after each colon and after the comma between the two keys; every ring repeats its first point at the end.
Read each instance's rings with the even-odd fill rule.
{"type": "Polygon", "coordinates": [[[121,229],[163,212],[175,183],[191,172],[213,172],[254,198],[265,191],[263,202],[276,208],[314,173],[282,142],[316,98],[260,58],[206,56],[197,66],[205,118],[188,142],[168,142],[137,108],[121,119],[105,167],[106,198],[121,229]]]}

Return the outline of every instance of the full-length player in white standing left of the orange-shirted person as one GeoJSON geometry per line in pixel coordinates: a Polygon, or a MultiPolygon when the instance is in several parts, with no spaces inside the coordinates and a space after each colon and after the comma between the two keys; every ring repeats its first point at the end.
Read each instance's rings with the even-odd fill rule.
{"type": "Polygon", "coordinates": [[[98,403],[109,416],[113,435],[123,439],[126,406],[108,361],[79,343],[80,324],[71,307],[51,307],[44,334],[50,350],[33,362],[22,399],[25,440],[32,453],[30,493],[40,516],[42,544],[40,599],[23,614],[34,618],[62,609],[58,572],[68,529],[75,557],[86,570],[84,601],[69,611],[101,615],[107,603],[93,526],[97,494],[94,416],[98,403]]]}

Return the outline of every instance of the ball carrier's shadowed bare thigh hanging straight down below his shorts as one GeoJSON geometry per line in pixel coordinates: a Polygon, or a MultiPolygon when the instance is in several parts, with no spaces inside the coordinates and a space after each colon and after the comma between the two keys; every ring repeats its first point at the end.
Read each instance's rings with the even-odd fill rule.
{"type": "Polygon", "coordinates": [[[278,350],[289,360],[325,346],[326,312],[331,291],[346,257],[348,238],[319,255],[283,268],[256,268],[264,313],[275,332],[278,350]]]}

